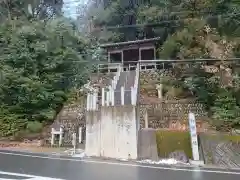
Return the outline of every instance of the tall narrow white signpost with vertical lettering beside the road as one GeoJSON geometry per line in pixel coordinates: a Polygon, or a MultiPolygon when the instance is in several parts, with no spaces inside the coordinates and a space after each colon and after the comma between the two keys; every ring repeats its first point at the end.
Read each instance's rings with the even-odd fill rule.
{"type": "Polygon", "coordinates": [[[195,115],[190,112],[188,115],[188,120],[189,120],[189,129],[190,129],[190,135],[191,135],[193,160],[199,161],[197,127],[196,127],[195,115]]]}

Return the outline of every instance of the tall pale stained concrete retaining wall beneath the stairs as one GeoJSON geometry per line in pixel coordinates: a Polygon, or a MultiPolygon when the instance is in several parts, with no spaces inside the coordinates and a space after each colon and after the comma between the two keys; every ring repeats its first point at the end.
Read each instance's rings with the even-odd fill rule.
{"type": "Polygon", "coordinates": [[[136,107],[108,106],[86,113],[86,154],[137,159],[136,107]]]}

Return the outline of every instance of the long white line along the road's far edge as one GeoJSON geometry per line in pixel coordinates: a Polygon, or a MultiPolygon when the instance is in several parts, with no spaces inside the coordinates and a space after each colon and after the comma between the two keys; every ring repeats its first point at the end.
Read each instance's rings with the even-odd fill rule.
{"type": "Polygon", "coordinates": [[[207,170],[207,169],[201,169],[201,168],[187,169],[187,168],[174,168],[174,167],[160,167],[160,166],[149,166],[149,165],[142,165],[142,164],[121,163],[121,162],[104,162],[104,161],[94,161],[94,160],[84,160],[84,159],[46,157],[46,156],[39,156],[39,155],[19,154],[19,153],[10,153],[10,152],[0,152],[0,154],[13,155],[13,156],[23,156],[23,157],[32,157],[32,158],[40,158],[40,159],[84,162],[84,163],[92,163],[92,164],[107,164],[107,165],[129,166],[129,167],[141,167],[141,168],[171,170],[171,171],[205,172],[205,173],[240,175],[240,171],[239,172],[237,172],[237,171],[234,172],[234,171],[221,171],[221,170],[207,170]]]}

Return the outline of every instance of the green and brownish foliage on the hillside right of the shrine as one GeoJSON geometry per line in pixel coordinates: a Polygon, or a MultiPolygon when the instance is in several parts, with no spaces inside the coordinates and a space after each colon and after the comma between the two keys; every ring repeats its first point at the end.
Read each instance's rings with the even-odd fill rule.
{"type": "MultiPolygon", "coordinates": [[[[207,2],[207,1],[206,1],[207,2]]],[[[210,2],[208,2],[210,3],[210,2]]],[[[226,8],[224,6],[224,8],[226,8]]],[[[189,18],[184,26],[168,36],[162,47],[158,50],[159,56],[166,59],[194,59],[194,58],[232,58],[239,53],[239,39],[231,39],[226,33],[222,33],[218,27],[213,28],[209,19],[189,18]],[[211,27],[212,26],[212,27],[211,27]]],[[[238,127],[239,119],[239,70],[234,68],[232,72],[233,86],[223,86],[224,76],[219,73],[206,72],[203,62],[190,62],[190,66],[176,64],[172,69],[172,87],[182,87],[204,104],[212,119],[213,125],[218,130],[228,130],[238,127]],[[189,68],[190,67],[190,68],[189,68]],[[229,128],[231,127],[231,128],[229,128]]],[[[213,66],[219,69],[223,65],[225,70],[234,67],[235,62],[213,62],[213,66]]]]}

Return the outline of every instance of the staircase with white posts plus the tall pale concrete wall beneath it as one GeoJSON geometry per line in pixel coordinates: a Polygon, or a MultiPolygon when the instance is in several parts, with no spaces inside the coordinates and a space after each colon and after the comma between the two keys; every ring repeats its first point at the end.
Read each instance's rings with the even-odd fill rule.
{"type": "Polygon", "coordinates": [[[137,158],[138,83],[138,70],[123,72],[119,68],[110,85],[88,92],[85,145],[88,156],[137,158]],[[99,91],[101,98],[97,97],[99,91]]]}

